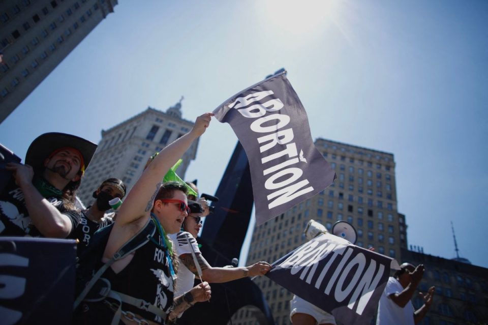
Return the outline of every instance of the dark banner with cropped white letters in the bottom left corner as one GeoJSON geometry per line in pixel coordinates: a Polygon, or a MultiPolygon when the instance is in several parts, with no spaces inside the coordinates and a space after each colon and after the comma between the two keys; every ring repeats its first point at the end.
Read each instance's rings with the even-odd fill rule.
{"type": "Polygon", "coordinates": [[[70,324],[76,242],[0,238],[0,323],[70,324]]]}

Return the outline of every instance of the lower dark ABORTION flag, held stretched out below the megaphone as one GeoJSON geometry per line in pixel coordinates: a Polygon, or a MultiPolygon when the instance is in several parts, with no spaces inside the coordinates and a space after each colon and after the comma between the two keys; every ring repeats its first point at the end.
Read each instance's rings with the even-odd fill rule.
{"type": "Polygon", "coordinates": [[[396,260],[322,234],[286,254],[266,276],[345,324],[369,324],[396,260]]]}

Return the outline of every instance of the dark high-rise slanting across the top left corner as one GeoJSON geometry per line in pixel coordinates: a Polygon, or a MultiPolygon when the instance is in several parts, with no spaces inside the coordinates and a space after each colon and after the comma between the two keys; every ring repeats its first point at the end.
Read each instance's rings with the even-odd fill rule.
{"type": "Polygon", "coordinates": [[[117,0],[0,2],[0,123],[115,5],[117,0]]]}

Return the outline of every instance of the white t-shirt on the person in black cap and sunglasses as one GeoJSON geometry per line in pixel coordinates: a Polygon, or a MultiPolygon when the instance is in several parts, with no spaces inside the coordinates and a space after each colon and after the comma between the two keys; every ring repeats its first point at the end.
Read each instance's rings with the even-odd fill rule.
{"type": "MultiPolygon", "coordinates": [[[[180,256],[183,254],[191,254],[192,248],[195,251],[195,254],[201,254],[200,250],[198,249],[198,243],[193,238],[191,233],[186,231],[181,231],[178,233],[170,234],[169,238],[173,242],[173,250],[176,256],[180,256]],[[190,240],[190,245],[188,244],[188,240],[190,240]]],[[[195,281],[195,275],[188,270],[185,264],[179,263],[178,273],[176,274],[176,291],[174,292],[174,297],[179,297],[181,294],[191,290],[193,288],[193,282],[195,281]]]]}

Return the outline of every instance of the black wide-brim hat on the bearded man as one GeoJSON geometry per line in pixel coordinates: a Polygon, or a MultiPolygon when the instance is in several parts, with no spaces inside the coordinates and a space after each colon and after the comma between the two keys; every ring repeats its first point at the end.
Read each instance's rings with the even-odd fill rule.
{"type": "Polygon", "coordinates": [[[78,150],[83,156],[85,170],[97,150],[97,144],[80,138],[76,135],[49,132],[38,136],[27,149],[25,164],[31,165],[34,170],[44,168],[44,160],[58,149],[71,147],[78,150]]]}

